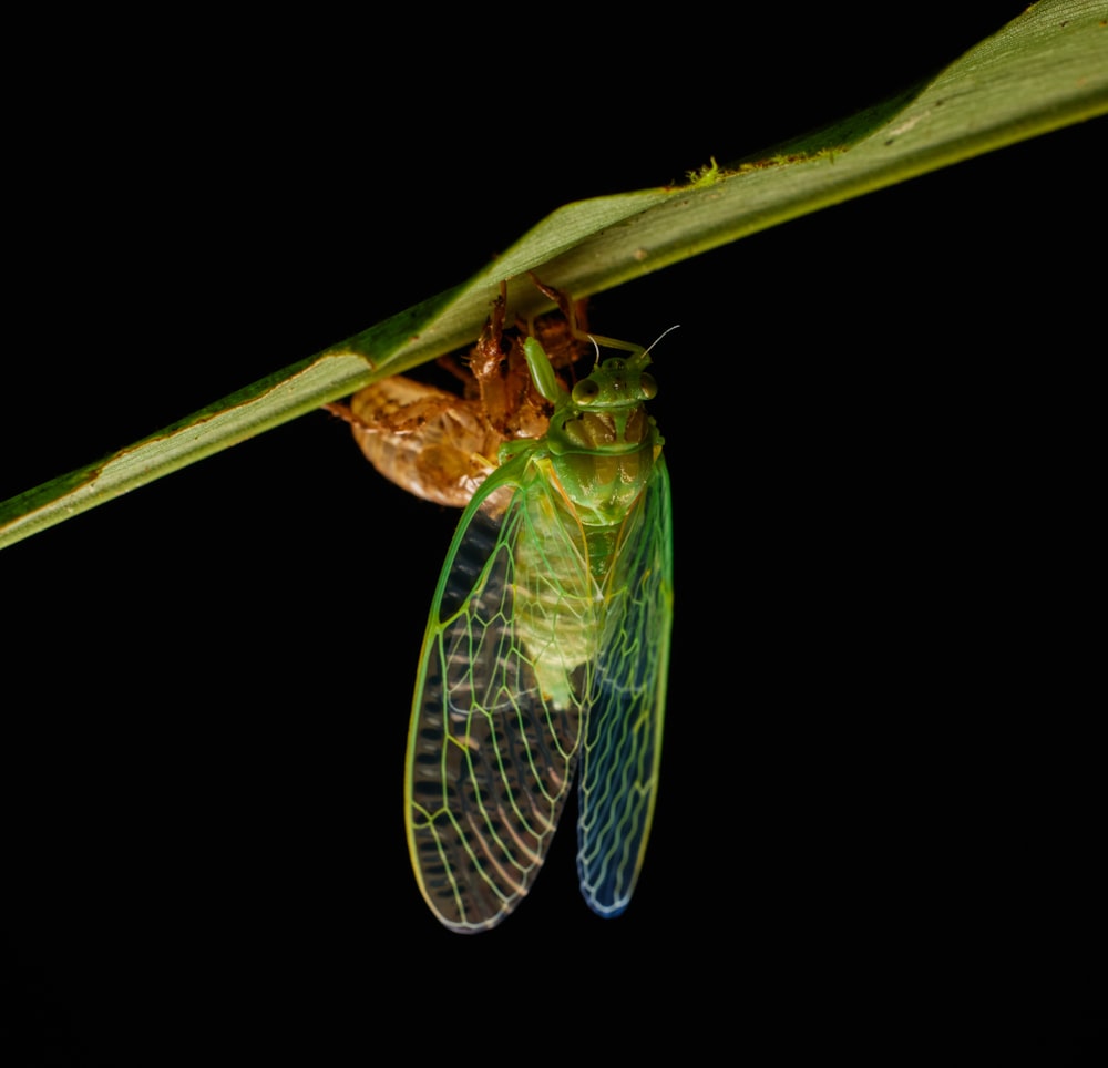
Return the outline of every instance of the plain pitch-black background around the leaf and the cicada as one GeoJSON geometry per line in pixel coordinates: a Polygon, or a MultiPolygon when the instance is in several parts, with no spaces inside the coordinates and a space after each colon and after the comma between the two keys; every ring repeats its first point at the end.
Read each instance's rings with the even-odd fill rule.
{"type": "MultiPolygon", "coordinates": [[[[64,91],[10,132],[0,499],[463,280],[563,203],[881,100],[1022,4],[973,8],[43,44],[64,91]]],[[[16,1062],[1087,1048],[1104,133],[592,301],[614,337],[681,326],[654,369],[667,748],[617,921],[581,901],[570,833],[496,931],[425,910],[402,758],[456,515],[332,419],[6,550],[16,1062]]]]}

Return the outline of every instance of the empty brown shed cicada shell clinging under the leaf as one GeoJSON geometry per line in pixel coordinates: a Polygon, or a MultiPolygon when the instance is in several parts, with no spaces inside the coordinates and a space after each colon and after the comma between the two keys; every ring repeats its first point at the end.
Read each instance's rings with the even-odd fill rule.
{"type": "Polygon", "coordinates": [[[579,333],[583,302],[570,306],[555,290],[548,295],[563,310],[505,328],[502,294],[473,349],[440,361],[462,383],[462,396],[394,376],[356,393],[349,408],[327,409],[350,423],[366,459],[391,482],[437,504],[464,507],[495,470],[502,445],[541,438],[550,423],[553,405],[534,387],[525,337],[544,339],[560,369],[588,350],[579,333]]]}

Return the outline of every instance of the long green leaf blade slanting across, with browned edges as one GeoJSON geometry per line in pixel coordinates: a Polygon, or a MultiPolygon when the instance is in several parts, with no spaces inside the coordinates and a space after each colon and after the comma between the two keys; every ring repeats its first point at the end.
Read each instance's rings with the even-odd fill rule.
{"type": "MultiPolygon", "coordinates": [[[[567,204],[469,281],[114,455],[0,504],[0,547],[472,341],[501,283],[513,310],[576,297],[1028,137],[1108,113],[1108,9],[1040,0],[935,78],[690,185],[567,204]]],[[[721,138],[724,134],[721,133],[721,138]]],[[[1059,165],[1066,165],[1061,161],[1059,165]]]]}

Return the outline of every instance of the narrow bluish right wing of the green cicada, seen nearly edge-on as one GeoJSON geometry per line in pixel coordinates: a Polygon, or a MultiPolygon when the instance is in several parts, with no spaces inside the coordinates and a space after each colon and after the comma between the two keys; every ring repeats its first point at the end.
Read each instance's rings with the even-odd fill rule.
{"type": "Polygon", "coordinates": [[[643,866],[661,758],[674,606],[669,476],[661,456],[624,522],[607,577],[581,758],[577,874],[588,906],[617,916],[643,866]]]}

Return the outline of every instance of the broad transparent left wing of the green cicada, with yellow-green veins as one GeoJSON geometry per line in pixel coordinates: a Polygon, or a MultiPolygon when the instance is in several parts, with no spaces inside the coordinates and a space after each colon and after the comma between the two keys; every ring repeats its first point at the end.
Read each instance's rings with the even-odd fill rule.
{"type": "Polygon", "coordinates": [[[451,543],[423,639],[408,844],[424,898],[459,932],[494,926],[527,893],[573,781],[591,665],[538,648],[535,561],[557,561],[543,612],[595,598],[584,536],[556,496],[530,454],[489,477],[451,543]]]}

